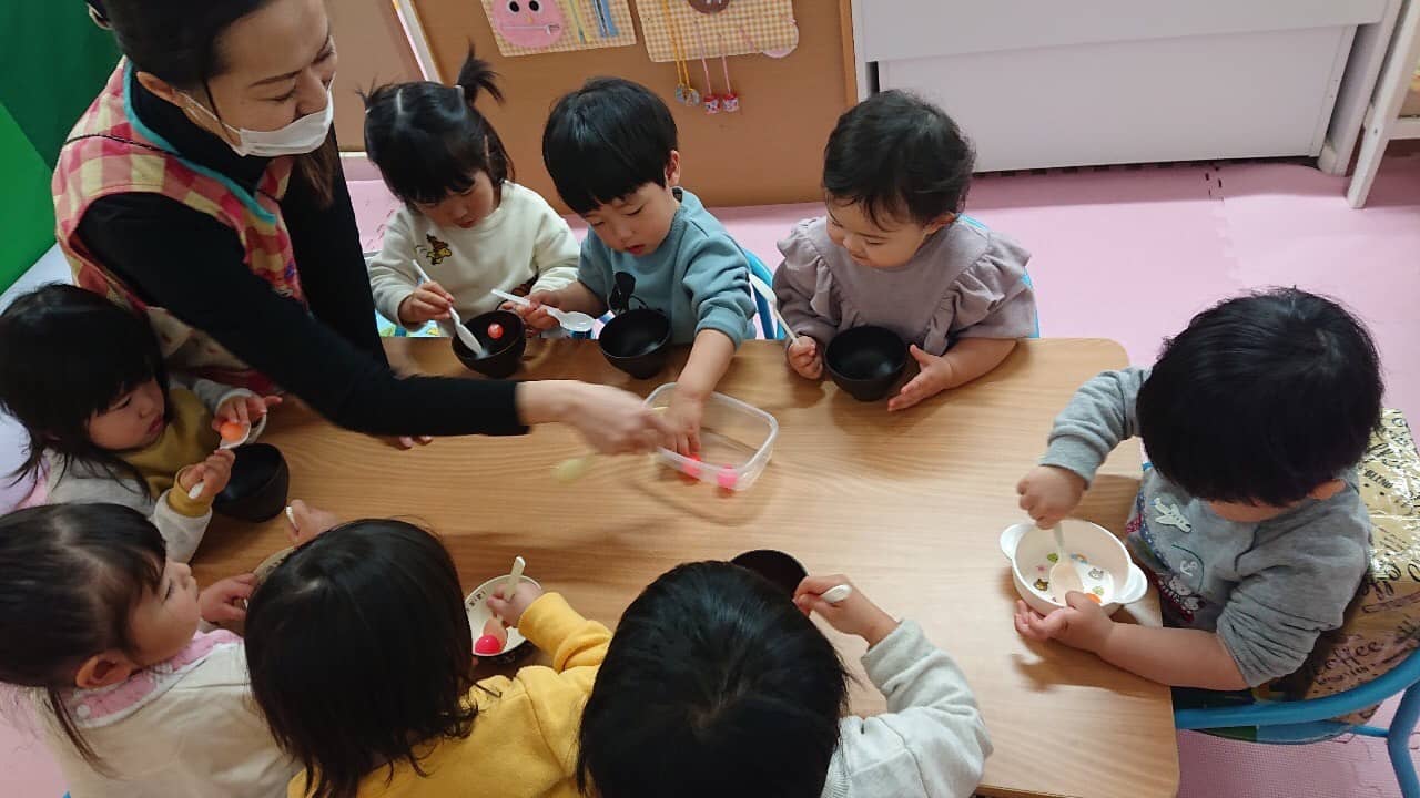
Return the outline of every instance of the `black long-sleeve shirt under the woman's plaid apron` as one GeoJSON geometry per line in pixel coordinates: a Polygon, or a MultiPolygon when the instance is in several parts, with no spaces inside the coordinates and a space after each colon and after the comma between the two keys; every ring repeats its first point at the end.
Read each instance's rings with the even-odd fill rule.
{"type": "MultiPolygon", "coordinates": [[[[254,192],[268,159],[241,158],[180,109],[129,84],[133,112],[183,158],[254,192]]],[[[513,382],[398,378],[375,302],[345,175],[321,207],[301,176],[281,199],[310,312],[243,263],[234,230],[153,193],[99,197],[80,220],[92,257],[148,304],[202,329],[331,422],[371,434],[517,434],[513,382]]]]}

